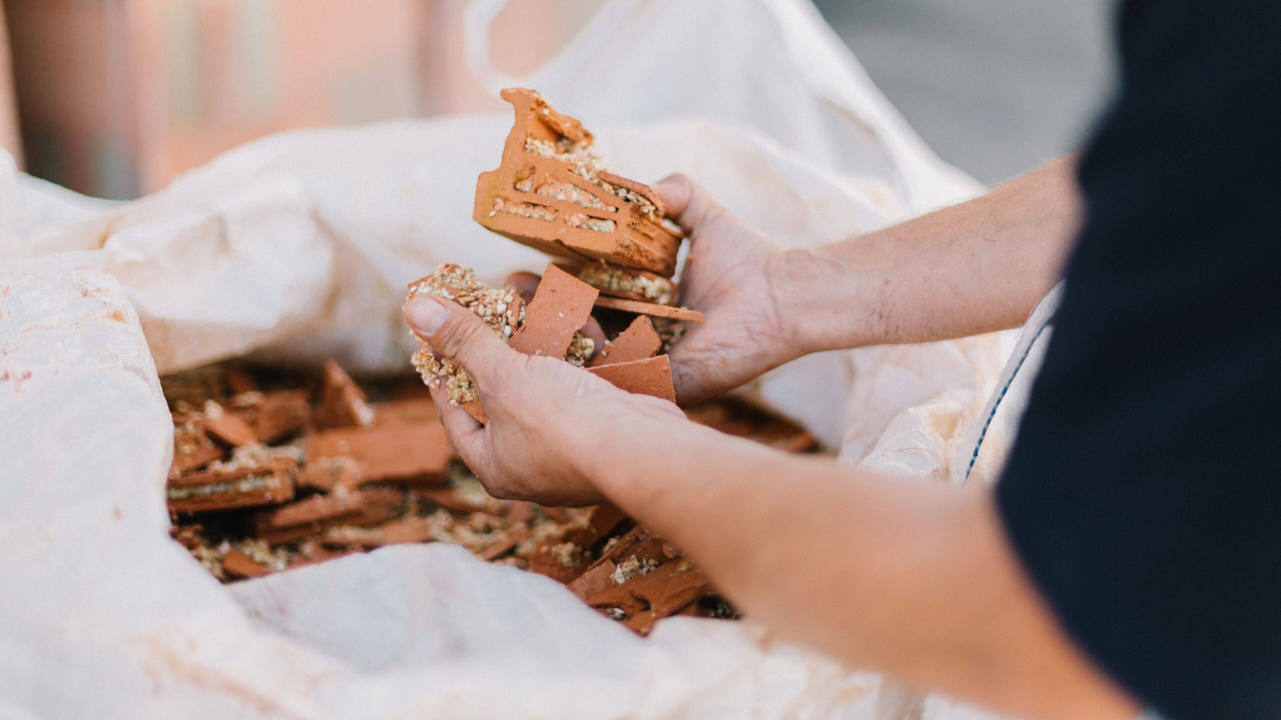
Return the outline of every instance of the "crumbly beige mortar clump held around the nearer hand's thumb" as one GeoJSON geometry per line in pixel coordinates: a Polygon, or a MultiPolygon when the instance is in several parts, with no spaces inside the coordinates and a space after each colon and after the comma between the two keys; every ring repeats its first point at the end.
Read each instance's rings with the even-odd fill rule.
{"type": "MultiPolygon", "coordinates": [[[[459,305],[475,313],[494,334],[503,342],[511,342],[511,336],[525,324],[525,304],[520,299],[520,292],[510,288],[493,288],[477,279],[471,268],[464,268],[453,263],[446,263],[434,273],[414,281],[409,286],[409,300],[416,295],[434,295],[446,300],[452,300],[459,305]]],[[[574,333],[565,361],[585,368],[588,359],[596,350],[592,338],[583,333],[574,333]]],[[[464,405],[479,400],[471,378],[448,357],[437,359],[421,340],[419,350],[412,356],[414,368],[418,369],[423,382],[432,384],[439,378],[450,393],[450,402],[464,405]]]]}

